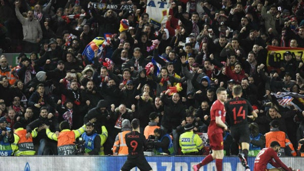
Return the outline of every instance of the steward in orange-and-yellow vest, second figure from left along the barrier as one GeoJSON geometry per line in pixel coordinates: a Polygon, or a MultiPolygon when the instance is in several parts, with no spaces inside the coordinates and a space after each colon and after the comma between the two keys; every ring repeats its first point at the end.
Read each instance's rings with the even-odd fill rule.
{"type": "Polygon", "coordinates": [[[35,149],[33,144],[33,138],[37,137],[37,129],[31,132],[30,137],[26,138],[26,130],[23,129],[21,122],[16,122],[13,126],[14,129],[14,143],[11,144],[13,155],[23,156],[23,155],[34,155],[35,149]]]}

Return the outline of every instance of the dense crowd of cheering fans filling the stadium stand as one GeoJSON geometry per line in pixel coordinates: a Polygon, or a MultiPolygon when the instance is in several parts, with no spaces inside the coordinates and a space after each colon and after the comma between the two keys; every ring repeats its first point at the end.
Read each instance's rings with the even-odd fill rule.
{"type": "MultiPolygon", "coordinates": [[[[46,133],[59,134],[64,120],[82,133],[93,120],[103,135],[102,154],[117,153],[111,150],[116,136],[129,130],[122,130],[122,121],[133,118],[142,134],[147,125],[171,134],[174,153],[181,154],[179,135],[192,129],[184,129],[186,123],[207,133],[216,89],[225,88],[231,99],[240,84],[242,98],[258,114],[248,117],[252,135],[282,131],[290,140],[285,155],[304,155],[304,49],[284,49],[279,58],[268,50],[304,48],[302,0],[171,1],[168,20],[158,29],[149,23],[144,0],[0,2],[0,125],[32,133],[37,154],[57,154],[45,152],[57,149],[57,138],[46,133]],[[134,10],[97,10],[90,2],[134,10]],[[102,51],[82,55],[105,34],[111,38],[102,51]],[[19,64],[12,67],[2,53],[20,53],[19,64]],[[278,99],[288,93],[293,100],[282,106],[278,99]]],[[[224,141],[225,154],[237,155],[236,143],[224,141]]],[[[267,140],[251,143],[261,149],[267,140]]]]}

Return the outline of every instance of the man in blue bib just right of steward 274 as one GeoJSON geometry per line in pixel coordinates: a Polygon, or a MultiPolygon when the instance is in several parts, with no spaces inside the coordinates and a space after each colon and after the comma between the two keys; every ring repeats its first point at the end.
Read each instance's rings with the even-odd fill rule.
{"type": "Polygon", "coordinates": [[[86,132],[81,136],[86,141],[84,155],[98,155],[100,151],[101,138],[96,133],[94,126],[92,122],[86,123],[86,132]]]}

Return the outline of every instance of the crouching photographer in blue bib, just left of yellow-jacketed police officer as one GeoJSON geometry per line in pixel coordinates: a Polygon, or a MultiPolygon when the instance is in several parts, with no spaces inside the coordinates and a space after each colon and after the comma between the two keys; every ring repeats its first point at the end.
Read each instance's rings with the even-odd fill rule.
{"type": "Polygon", "coordinates": [[[166,134],[162,129],[154,130],[155,139],[148,138],[148,147],[154,147],[156,155],[173,155],[173,143],[169,134],[166,134]]]}

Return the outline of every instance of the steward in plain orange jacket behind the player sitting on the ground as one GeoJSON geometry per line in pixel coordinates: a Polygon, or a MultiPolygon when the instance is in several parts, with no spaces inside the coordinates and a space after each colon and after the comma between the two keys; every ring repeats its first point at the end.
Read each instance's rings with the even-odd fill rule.
{"type": "Polygon", "coordinates": [[[270,147],[271,142],[277,141],[281,148],[278,152],[279,156],[296,156],[296,152],[291,144],[286,133],[279,130],[279,121],[273,120],[270,122],[270,132],[265,134],[266,145],[265,147],[270,147]],[[286,149],[289,148],[290,153],[286,153],[286,149]]]}

